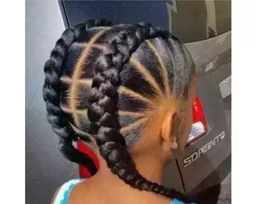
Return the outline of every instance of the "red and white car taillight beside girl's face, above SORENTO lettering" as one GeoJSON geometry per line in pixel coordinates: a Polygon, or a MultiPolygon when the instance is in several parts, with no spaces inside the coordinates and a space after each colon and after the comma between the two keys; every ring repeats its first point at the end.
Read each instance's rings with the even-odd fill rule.
{"type": "Polygon", "coordinates": [[[191,144],[207,132],[207,123],[204,115],[203,107],[199,97],[197,96],[193,103],[193,124],[188,137],[187,145],[191,144]]]}

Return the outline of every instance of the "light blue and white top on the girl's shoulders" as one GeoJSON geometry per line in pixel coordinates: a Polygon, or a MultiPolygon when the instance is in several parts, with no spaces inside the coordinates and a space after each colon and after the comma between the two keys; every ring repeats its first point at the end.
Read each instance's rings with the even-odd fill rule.
{"type": "MultiPolygon", "coordinates": [[[[57,192],[53,204],[68,204],[68,198],[73,187],[84,181],[84,179],[75,179],[63,184],[57,192]]],[[[185,204],[184,202],[174,199],[170,204],[185,204]]]]}

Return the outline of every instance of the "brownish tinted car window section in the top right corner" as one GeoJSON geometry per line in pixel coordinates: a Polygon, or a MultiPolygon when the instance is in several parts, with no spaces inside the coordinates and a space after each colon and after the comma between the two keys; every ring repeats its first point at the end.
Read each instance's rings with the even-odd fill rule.
{"type": "Polygon", "coordinates": [[[231,1],[175,1],[173,6],[166,5],[169,30],[183,42],[204,40],[231,30],[231,1]]]}

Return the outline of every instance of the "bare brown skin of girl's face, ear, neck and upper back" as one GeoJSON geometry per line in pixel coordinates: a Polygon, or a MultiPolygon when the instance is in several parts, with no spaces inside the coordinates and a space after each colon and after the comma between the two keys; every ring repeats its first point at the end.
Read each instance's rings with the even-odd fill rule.
{"type": "MultiPolygon", "coordinates": [[[[163,168],[173,152],[184,150],[192,124],[192,105],[197,94],[196,78],[191,79],[188,98],[182,107],[160,107],[161,117],[155,117],[154,125],[148,125],[131,155],[138,171],[152,182],[162,184],[163,168]],[[157,128],[158,127],[158,128],[157,128]]],[[[126,185],[114,175],[98,154],[99,171],[89,180],[77,184],[69,195],[69,204],[82,203],[166,203],[172,199],[153,192],[140,191],[126,185]]]]}

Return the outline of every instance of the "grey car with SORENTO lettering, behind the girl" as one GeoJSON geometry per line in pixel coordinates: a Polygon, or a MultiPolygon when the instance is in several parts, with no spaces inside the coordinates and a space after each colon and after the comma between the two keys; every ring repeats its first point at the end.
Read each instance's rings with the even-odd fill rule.
{"type": "MultiPolygon", "coordinates": [[[[50,125],[45,119],[40,119],[46,115],[45,105],[36,97],[41,97],[41,92],[38,92],[41,89],[38,87],[42,85],[44,75],[37,73],[42,71],[43,63],[49,57],[49,50],[56,41],[51,38],[58,39],[63,30],[85,19],[101,17],[115,23],[151,22],[169,30],[185,43],[198,73],[198,96],[193,105],[194,122],[184,152],[164,168],[163,185],[197,199],[211,193],[214,197],[211,198],[212,203],[217,203],[221,182],[231,172],[231,1],[26,2],[26,36],[28,34],[33,39],[34,36],[47,36],[45,39],[40,37],[40,41],[26,38],[26,45],[41,45],[44,56],[33,65],[40,70],[32,70],[32,65],[27,64],[27,61],[32,59],[30,53],[35,53],[36,48],[26,47],[26,158],[32,162],[26,162],[26,174],[30,173],[30,176],[26,176],[26,191],[30,193],[28,203],[33,203],[41,195],[45,197],[42,203],[49,201],[52,194],[42,191],[54,191],[65,180],[73,179],[78,170],[77,165],[65,161],[57,152],[57,139],[50,139],[53,135],[50,125]],[[31,20],[27,21],[27,18],[31,20]],[[33,24],[33,18],[36,18],[38,24],[33,24]],[[39,31],[33,30],[35,26],[39,31]],[[38,79],[29,82],[35,76],[38,79]],[[35,110],[39,109],[40,114],[36,114],[35,110]],[[37,140],[33,138],[35,134],[38,136],[37,140]],[[51,155],[47,161],[39,164],[38,160],[45,158],[46,154],[45,148],[40,144],[46,144],[45,148],[51,149],[51,155]],[[50,163],[51,168],[63,167],[65,170],[51,172],[52,180],[46,182],[47,175],[44,172],[50,172],[50,167],[47,167],[50,163]],[[38,178],[37,174],[41,177],[38,178]],[[34,190],[35,181],[45,182],[39,193],[34,190]]],[[[78,143],[77,148],[90,155],[99,168],[92,150],[82,143],[78,143]]],[[[91,176],[81,166],[79,175],[91,176]]]]}

